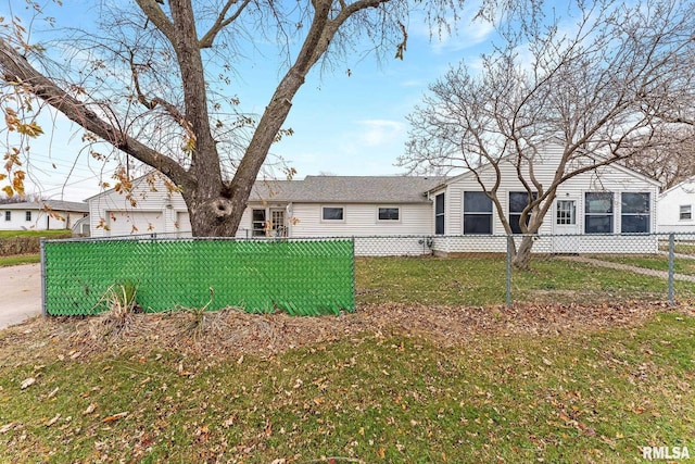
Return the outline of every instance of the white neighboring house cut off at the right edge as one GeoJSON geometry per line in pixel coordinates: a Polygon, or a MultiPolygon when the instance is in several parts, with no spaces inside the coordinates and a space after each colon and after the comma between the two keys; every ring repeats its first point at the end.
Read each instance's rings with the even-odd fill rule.
{"type": "Polygon", "coordinates": [[[659,233],[695,233],[695,177],[659,195],[656,221],[659,233]]]}

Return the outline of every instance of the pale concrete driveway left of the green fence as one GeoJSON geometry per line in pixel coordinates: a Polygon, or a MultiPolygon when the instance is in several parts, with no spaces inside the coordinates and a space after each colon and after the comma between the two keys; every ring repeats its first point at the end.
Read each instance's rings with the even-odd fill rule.
{"type": "Polygon", "coordinates": [[[0,267],[0,329],[41,314],[41,265],[0,267]]]}

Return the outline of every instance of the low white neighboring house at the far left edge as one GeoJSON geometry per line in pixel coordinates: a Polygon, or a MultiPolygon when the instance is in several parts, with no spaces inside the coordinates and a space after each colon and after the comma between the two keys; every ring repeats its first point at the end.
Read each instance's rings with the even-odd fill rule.
{"type": "Polygon", "coordinates": [[[70,229],[88,213],[89,205],[76,201],[0,204],[0,230],[70,229]]]}

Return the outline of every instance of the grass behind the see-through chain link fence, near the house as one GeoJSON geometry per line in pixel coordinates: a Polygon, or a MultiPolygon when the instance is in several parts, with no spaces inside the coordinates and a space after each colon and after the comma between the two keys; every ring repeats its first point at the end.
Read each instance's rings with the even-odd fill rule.
{"type": "MultiPolygon", "coordinates": [[[[514,301],[666,300],[665,279],[558,259],[534,259],[530,272],[514,271],[514,301]]],[[[484,305],[505,302],[506,266],[500,258],[362,258],[355,264],[358,303],[402,302],[484,305]]],[[[675,283],[677,296],[695,296],[675,283]]]]}

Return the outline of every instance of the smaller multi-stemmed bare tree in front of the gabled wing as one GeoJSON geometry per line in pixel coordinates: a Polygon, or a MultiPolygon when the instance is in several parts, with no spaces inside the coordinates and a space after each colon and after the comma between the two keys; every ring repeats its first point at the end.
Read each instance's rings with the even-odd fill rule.
{"type": "MultiPolygon", "coordinates": [[[[602,0],[568,11],[572,23],[540,15],[505,23],[503,45],[482,57],[480,71],[450,70],[409,115],[400,164],[470,170],[507,234],[511,225],[498,198],[503,163],[514,165],[528,193],[519,228],[535,234],[561,184],[635,153],[658,152],[667,140],[657,133],[693,120],[692,2],[602,0]],[[667,108],[682,121],[667,118],[667,108]],[[552,180],[542,181],[534,164],[548,142],[559,143],[563,154],[552,180]],[[495,173],[491,179],[480,175],[486,170],[495,173]]],[[[525,236],[515,266],[528,268],[532,246],[525,236]]]]}

